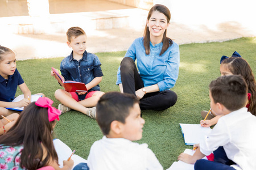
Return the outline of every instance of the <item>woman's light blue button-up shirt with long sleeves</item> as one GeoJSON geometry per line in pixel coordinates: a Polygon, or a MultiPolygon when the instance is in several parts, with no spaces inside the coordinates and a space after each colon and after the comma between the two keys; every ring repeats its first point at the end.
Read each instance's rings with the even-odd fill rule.
{"type": "MultiPolygon", "coordinates": [[[[159,56],[163,47],[160,42],[155,46],[150,42],[150,54],[146,54],[143,37],[135,39],[127,50],[125,57],[137,60],[138,72],[144,87],[158,84],[159,91],[174,87],[179,75],[180,50],[179,45],[172,41],[172,45],[159,56]]],[[[120,67],[117,71],[117,82],[121,82],[120,67]]]]}

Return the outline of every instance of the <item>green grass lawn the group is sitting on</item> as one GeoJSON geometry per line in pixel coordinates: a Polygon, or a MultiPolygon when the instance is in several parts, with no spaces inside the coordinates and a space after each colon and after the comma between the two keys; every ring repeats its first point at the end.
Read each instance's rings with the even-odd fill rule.
{"type": "MultiPolygon", "coordinates": [[[[178,96],[177,103],[165,111],[142,111],[146,121],[143,138],[135,141],[147,143],[164,169],[169,168],[185,148],[192,148],[184,144],[179,123],[199,124],[200,112],[208,111],[210,108],[208,85],[211,80],[220,76],[220,58],[222,55],[230,57],[235,50],[249,62],[255,73],[255,37],[180,45],[179,78],[172,88],[178,96]]],[[[101,91],[119,91],[115,81],[119,63],[124,55],[125,52],[97,53],[104,73],[100,83],[101,91]]],[[[17,68],[32,94],[42,92],[54,101],[53,106],[56,108],[60,102],[55,99],[54,92],[60,86],[50,75],[50,71],[51,67],[59,68],[62,59],[30,59],[17,62],[17,68]]],[[[18,88],[16,96],[19,94],[22,92],[18,88]]],[[[70,111],[60,116],[60,121],[55,127],[55,137],[72,150],[75,149],[77,155],[87,159],[90,146],[102,138],[102,133],[96,120],[82,113],[70,111]]]]}

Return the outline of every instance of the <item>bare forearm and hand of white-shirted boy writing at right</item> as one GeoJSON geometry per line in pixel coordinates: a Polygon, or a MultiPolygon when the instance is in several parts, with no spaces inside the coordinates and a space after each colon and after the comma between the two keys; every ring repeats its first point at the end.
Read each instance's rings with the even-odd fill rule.
{"type": "Polygon", "coordinates": [[[183,161],[185,163],[188,163],[188,164],[195,164],[197,160],[204,158],[204,156],[205,155],[200,152],[200,147],[198,147],[193,156],[181,153],[178,156],[178,160],[181,160],[181,161],[183,161]]]}

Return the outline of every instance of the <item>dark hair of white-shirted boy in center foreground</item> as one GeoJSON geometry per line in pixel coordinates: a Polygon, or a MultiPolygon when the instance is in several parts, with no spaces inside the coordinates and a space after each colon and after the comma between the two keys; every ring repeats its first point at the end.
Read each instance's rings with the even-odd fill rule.
{"type": "Polygon", "coordinates": [[[137,97],[120,92],[108,92],[103,95],[96,105],[96,120],[104,135],[108,135],[110,124],[119,121],[125,124],[126,117],[134,104],[139,103],[137,97]]]}

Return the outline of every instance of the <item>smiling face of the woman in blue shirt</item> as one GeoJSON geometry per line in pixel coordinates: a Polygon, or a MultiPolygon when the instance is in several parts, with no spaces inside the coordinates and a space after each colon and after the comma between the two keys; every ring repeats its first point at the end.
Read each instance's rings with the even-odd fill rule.
{"type": "Polygon", "coordinates": [[[150,19],[147,20],[147,27],[150,31],[150,39],[163,39],[163,33],[166,31],[170,23],[167,22],[167,17],[159,11],[152,12],[150,19]]]}

